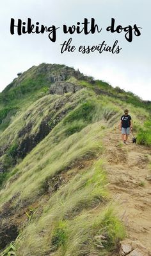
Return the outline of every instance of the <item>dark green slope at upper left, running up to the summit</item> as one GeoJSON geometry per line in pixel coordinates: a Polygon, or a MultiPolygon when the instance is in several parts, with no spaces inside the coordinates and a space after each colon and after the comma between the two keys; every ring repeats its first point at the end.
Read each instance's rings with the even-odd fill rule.
{"type": "Polygon", "coordinates": [[[10,123],[11,117],[22,109],[26,109],[36,99],[41,98],[53,82],[67,80],[74,75],[84,76],[65,65],[40,64],[33,66],[15,78],[2,93],[0,93],[0,129],[4,130],[10,123]]]}

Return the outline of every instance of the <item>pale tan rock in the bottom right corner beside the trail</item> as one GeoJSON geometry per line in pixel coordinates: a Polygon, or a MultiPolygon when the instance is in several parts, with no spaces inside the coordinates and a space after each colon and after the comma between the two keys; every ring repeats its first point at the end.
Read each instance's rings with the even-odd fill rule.
{"type": "Polygon", "coordinates": [[[120,242],[119,256],[150,256],[150,251],[139,241],[125,240],[120,242]]]}

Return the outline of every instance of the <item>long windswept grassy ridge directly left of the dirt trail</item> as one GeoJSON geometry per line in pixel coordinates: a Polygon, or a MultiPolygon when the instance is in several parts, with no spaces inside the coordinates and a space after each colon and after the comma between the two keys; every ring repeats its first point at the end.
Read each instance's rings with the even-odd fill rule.
{"type": "MultiPolygon", "coordinates": [[[[51,251],[60,256],[106,255],[125,235],[109,203],[101,160],[104,128],[117,122],[120,107],[106,96],[96,98],[85,89],[73,98],[80,100],[76,108],[15,166],[0,192],[1,205],[19,191],[15,203],[26,200],[32,204],[45,194],[46,182],[62,175],[67,178],[57,191],[52,191],[43,214],[31,216],[28,226],[20,230],[13,244],[16,255],[40,256],[51,251]],[[96,207],[98,210],[93,210],[96,207]]],[[[34,104],[35,112],[38,102],[34,104]]],[[[44,102],[47,105],[47,100],[44,102]]]]}

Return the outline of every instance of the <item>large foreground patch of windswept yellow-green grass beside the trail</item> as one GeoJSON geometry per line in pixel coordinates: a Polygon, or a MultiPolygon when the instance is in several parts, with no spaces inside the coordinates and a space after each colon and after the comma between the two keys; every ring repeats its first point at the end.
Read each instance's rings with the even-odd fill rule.
{"type": "Polygon", "coordinates": [[[15,244],[17,255],[106,255],[113,250],[125,230],[108,203],[106,182],[100,160],[73,176],[51,196],[38,221],[33,219],[23,230],[15,244]],[[96,245],[99,235],[106,240],[102,248],[96,245]]]}

